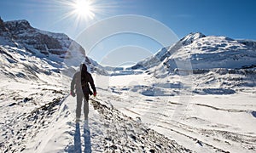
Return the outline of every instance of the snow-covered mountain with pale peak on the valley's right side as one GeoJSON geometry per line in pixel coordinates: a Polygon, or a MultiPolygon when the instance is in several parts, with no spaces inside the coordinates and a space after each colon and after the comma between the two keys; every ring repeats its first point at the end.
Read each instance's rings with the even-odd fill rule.
{"type": "Polygon", "coordinates": [[[256,65],[256,42],[229,37],[190,33],[171,47],[162,48],[154,56],[140,61],[132,69],[165,65],[168,71],[186,69],[184,62],[197,69],[241,69],[256,65]]]}

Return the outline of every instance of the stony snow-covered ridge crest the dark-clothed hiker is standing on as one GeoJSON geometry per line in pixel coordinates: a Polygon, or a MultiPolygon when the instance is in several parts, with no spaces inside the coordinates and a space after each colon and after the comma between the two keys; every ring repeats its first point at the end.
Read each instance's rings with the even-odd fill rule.
{"type": "MultiPolygon", "coordinates": [[[[28,120],[42,123],[44,128],[38,132],[32,131],[35,135],[26,142],[27,145],[21,145],[20,150],[28,152],[75,152],[90,147],[91,150],[97,152],[191,152],[175,141],[167,139],[164,135],[144,127],[141,122],[132,120],[131,117],[125,116],[110,105],[96,99],[91,99],[90,139],[85,139],[85,132],[84,134],[80,133],[80,129],[84,129],[84,122],[74,124],[72,121],[73,116],[75,116],[73,100],[72,97],[57,99],[32,111],[27,116],[28,120]],[[49,124],[44,124],[45,122],[49,122],[49,124]],[[77,131],[78,129],[79,131],[77,131]]],[[[37,128],[38,124],[30,126],[33,129],[37,128]]],[[[18,133],[18,135],[22,134],[24,133],[18,133]]],[[[5,151],[9,150],[14,149],[10,147],[5,151]]],[[[15,151],[18,150],[15,149],[15,151]]]]}

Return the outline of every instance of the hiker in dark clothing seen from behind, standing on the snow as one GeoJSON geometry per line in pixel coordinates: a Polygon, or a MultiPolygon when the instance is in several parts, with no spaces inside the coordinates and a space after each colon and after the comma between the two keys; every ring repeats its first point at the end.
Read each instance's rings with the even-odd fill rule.
{"type": "Polygon", "coordinates": [[[71,95],[74,97],[77,94],[77,109],[76,109],[76,122],[79,122],[81,116],[82,102],[84,101],[84,120],[88,121],[89,114],[89,94],[90,87],[93,90],[93,95],[96,96],[96,88],[93,82],[93,78],[90,73],[87,72],[87,67],[84,64],[80,65],[80,71],[76,72],[71,82],[71,95]],[[75,92],[74,92],[75,88],[75,92]]]}

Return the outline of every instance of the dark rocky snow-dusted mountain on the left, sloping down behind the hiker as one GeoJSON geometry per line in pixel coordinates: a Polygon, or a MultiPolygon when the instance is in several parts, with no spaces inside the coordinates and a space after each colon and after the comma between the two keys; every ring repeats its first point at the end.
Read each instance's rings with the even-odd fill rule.
{"type": "Polygon", "coordinates": [[[108,74],[96,61],[85,56],[85,50],[79,43],[65,34],[38,30],[33,28],[27,20],[7,22],[0,20],[0,25],[2,48],[22,50],[24,54],[21,56],[26,54],[26,56],[42,59],[67,75],[72,75],[82,62],[90,65],[91,71],[108,74]]]}

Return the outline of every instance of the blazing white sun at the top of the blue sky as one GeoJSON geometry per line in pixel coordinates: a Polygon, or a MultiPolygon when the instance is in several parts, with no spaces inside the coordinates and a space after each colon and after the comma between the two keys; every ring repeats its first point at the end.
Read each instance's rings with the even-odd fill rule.
{"type": "Polygon", "coordinates": [[[95,17],[93,3],[90,0],[76,0],[73,2],[73,14],[87,20],[93,20],[95,17]]]}

